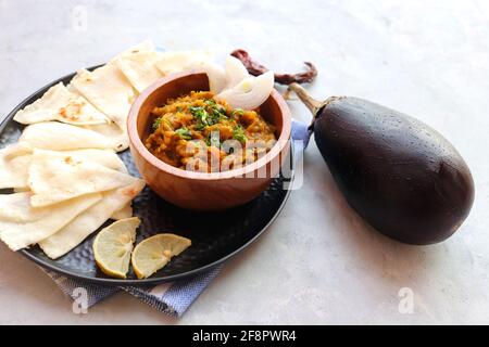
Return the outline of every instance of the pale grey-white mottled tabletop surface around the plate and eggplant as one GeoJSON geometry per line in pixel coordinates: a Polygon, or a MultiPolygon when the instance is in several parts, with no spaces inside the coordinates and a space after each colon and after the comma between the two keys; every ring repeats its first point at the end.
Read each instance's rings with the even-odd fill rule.
{"type": "MultiPolygon", "coordinates": [[[[303,188],[178,323],[489,323],[487,1],[0,0],[0,27],[3,116],[50,80],[145,38],[167,49],[244,48],[277,70],[316,63],[312,94],[415,115],[471,166],[477,196],[460,232],[412,247],[351,211],[313,142],[303,188]],[[414,292],[412,314],[398,310],[401,287],[414,292]]],[[[126,294],[74,314],[48,277],[3,244],[0,264],[0,323],[175,323],[126,294]]]]}

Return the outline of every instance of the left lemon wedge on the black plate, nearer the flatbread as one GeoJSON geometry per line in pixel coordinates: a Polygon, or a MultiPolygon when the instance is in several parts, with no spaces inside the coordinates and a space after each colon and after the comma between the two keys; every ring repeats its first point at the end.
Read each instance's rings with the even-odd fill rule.
{"type": "Polygon", "coordinates": [[[137,217],[120,219],[99,232],[93,241],[93,255],[103,273],[114,278],[126,278],[136,229],[140,223],[137,217]]]}

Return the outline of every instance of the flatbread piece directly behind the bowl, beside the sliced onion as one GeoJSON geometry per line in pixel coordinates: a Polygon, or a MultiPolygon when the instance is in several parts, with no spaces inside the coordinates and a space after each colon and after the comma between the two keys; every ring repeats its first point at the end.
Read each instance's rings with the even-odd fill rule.
{"type": "Polygon", "coordinates": [[[164,75],[188,68],[201,68],[214,57],[214,53],[211,51],[171,51],[158,54],[159,59],[155,65],[164,75]]]}

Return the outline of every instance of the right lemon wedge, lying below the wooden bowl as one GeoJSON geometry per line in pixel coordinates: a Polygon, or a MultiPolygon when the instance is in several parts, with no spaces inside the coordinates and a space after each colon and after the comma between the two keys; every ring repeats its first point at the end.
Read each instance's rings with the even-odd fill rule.
{"type": "Polygon", "coordinates": [[[134,272],[138,279],[149,278],[190,245],[190,240],[175,234],[156,234],[148,237],[134,248],[131,257],[134,272]]]}

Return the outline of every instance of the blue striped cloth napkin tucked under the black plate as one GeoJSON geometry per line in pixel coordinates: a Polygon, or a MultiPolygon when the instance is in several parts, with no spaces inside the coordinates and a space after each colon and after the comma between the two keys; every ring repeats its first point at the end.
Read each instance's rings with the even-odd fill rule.
{"type": "MultiPolygon", "coordinates": [[[[311,131],[305,124],[292,120],[291,138],[294,140],[294,145],[292,147],[294,151],[293,158],[296,163],[302,158],[303,150],[308,146],[310,137],[311,131]]],[[[55,282],[64,294],[74,300],[77,299],[79,295],[75,290],[85,288],[87,293],[87,308],[96,305],[112,294],[123,291],[136,296],[143,303],[168,316],[178,318],[184,314],[200,293],[202,293],[211,281],[214,280],[222,267],[223,266],[220,265],[208,272],[188,279],[149,287],[102,286],[65,278],[52,271],[43,271],[55,282]]]]}

